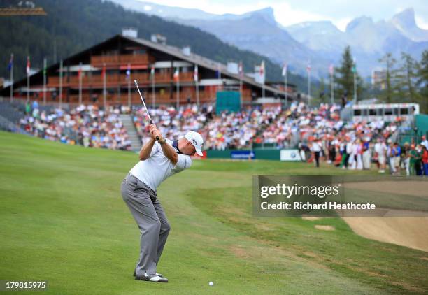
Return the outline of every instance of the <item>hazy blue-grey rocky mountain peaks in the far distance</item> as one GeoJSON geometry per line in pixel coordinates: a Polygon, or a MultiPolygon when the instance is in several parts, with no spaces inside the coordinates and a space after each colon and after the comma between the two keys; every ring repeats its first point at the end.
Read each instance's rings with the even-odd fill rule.
{"type": "Polygon", "coordinates": [[[406,52],[419,60],[422,51],[428,49],[428,30],[418,27],[413,8],[378,22],[371,17],[357,17],[341,31],[328,20],[283,27],[276,22],[270,7],[242,15],[215,15],[138,0],[110,1],[126,9],[197,27],[226,43],[269,57],[279,65],[287,62],[295,73],[305,74],[310,61],[312,73],[318,78],[328,74],[329,64],[338,65],[346,45],[350,45],[356,59],[357,71],[366,77],[382,66],[378,59],[387,52],[397,59],[401,52],[406,52]]]}

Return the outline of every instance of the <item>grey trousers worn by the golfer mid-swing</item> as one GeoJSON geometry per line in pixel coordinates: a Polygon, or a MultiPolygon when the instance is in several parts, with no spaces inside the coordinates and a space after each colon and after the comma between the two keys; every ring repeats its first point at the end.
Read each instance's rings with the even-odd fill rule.
{"type": "Polygon", "coordinates": [[[141,233],[136,274],[154,275],[171,229],[164,209],[156,192],[133,175],[129,174],[124,178],[120,190],[141,233]]]}

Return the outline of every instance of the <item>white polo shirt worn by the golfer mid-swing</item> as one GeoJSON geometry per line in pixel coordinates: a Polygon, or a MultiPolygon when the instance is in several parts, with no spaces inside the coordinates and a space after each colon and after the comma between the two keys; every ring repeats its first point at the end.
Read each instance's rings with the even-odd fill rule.
{"type": "MultiPolygon", "coordinates": [[[[166,139],[166,143],[172,147],[173,141],[166,139]]],[[[173,149],[178,152],[175,147],[173,149]]],[[[150,157],[145,161],[139,161],[129,173],[155,191],[166,178],[189,168],[191,165],[192,159],[187,154],[178,154],[177,164],[174,165],[164,155],[161,145],[156,141],[152,152],[150,152],[150,157]]]]}

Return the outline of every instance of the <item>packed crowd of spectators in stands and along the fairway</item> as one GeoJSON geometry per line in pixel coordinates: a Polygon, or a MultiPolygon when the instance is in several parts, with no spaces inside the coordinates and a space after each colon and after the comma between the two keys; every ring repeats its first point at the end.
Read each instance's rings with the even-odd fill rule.
{"type": "MultiPolygon", "coordinates": [[[[369,169],[375,163],[379,173],[428,175],[428,141],[397,143],[401,120],[341,120],[341,106],[321,104],[308,108],[294,102],[281,106],[246,106],[238,112],[215,113],[213,106],[187,105],[150,108],[150,116],[166,138],[179,138],[187,131],[199,131],[205,149],[251,149],[255,145],[276,148],[298,147],[301,159],[320,166],[325,161],[343,169],[369,169]],[[387,168],[388,167],[388,168],[387,168]]],[[[123,108],[100,110],[97,106],[78,106],[40,110],[37,101],[27,103],[20,126],[34,136],[85,147],[130,150],[131,141],[120,121],[123,108]]],[[[144,108],[131,110],[137,134],[148,136],[148,117],[144,108]]],[[[144,143],[144,142],[143,142],[144,143]]]]}

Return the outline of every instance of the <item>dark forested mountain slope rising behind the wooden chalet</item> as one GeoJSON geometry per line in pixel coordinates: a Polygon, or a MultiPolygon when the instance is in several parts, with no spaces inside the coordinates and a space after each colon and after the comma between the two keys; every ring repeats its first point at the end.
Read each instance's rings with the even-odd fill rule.
{"type": "MultiPolygon", "coordinates": [[[[0,0],[0,7],[16,6],[19,1],[0,0]]],[[[196,27],[125,10],[117,3],[105,0],[32,1],[47,15],[0,17],[0,64],[3,64],[0,77],[8,78],[10,75],[11,53],[14,54],[14,78],[20,80],[26,75],[27,56],[31,57],[32,69],[41,69],[44,58],[47,58],[48,65],[54,64],[120,34],[123,28],[133,27],[138,31],[138,38],[150,40],[152,34],[161,34],[167,38],[168,45],[178,48],[190,46],[192,52],[216,62],[242,61],[246,73],[254,71],[255,64],[265,60],[266,69],[269,69],[266,80],[283,81],[281,67],[271,62],[269,57],[224,43],[196,27]]],[[[288,78],[301,91],[306,89],[305,77],[290,74],[288,78]]]]}

